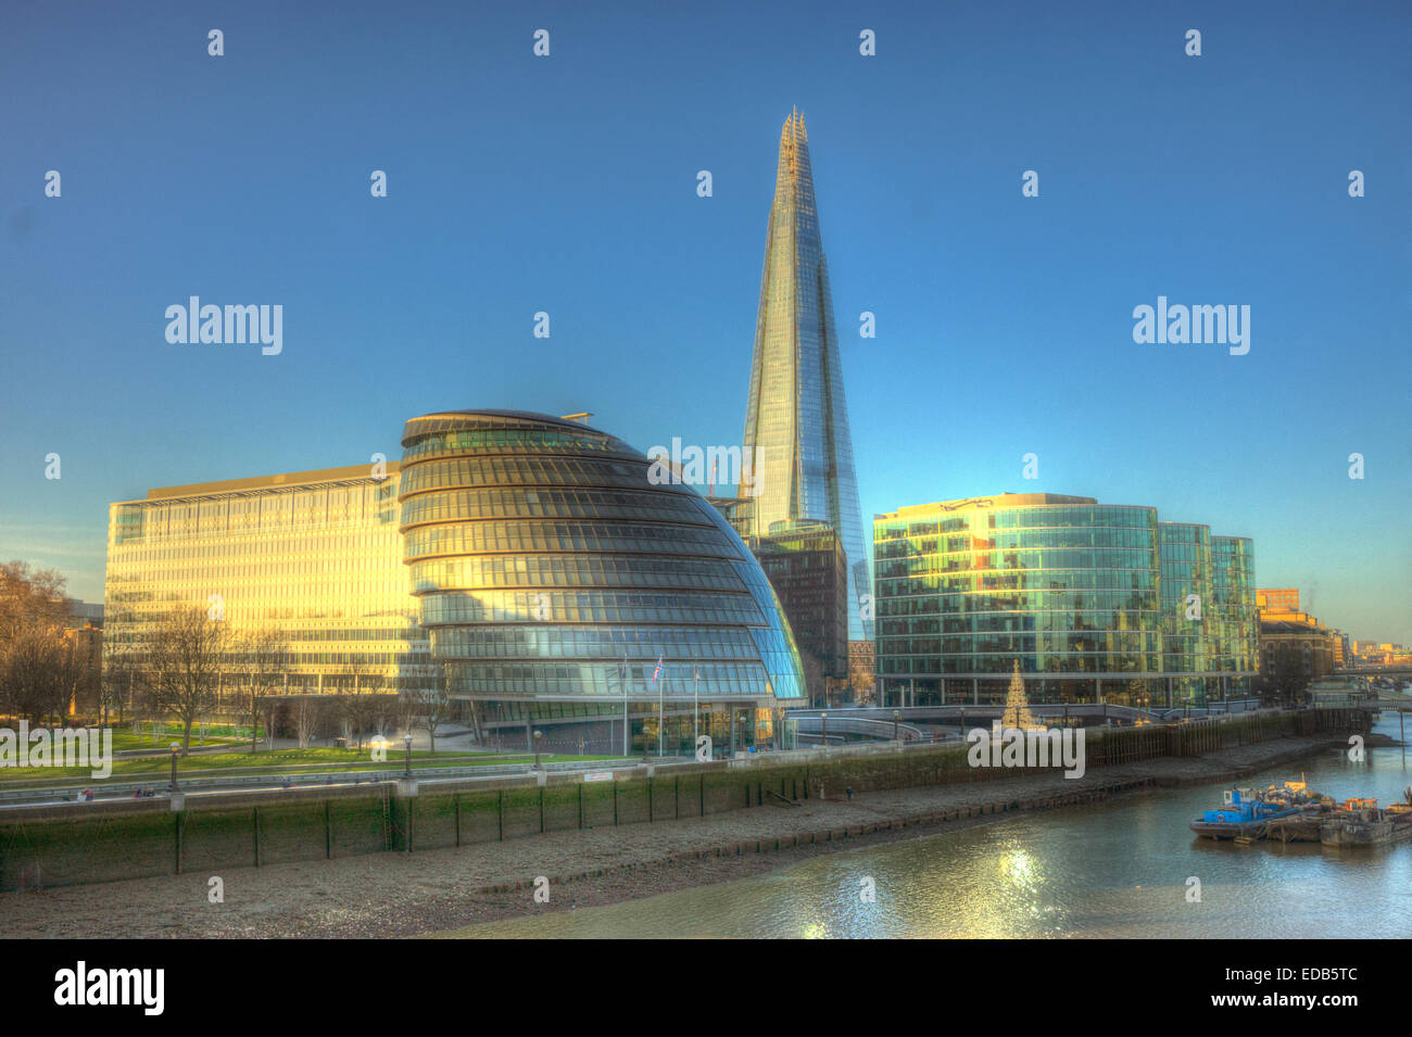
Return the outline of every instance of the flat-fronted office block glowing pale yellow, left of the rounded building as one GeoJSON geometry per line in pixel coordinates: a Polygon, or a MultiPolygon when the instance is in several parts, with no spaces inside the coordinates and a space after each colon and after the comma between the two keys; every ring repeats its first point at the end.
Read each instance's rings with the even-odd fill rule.
{"type": "Polygon", "coordinates": [[[274,631],[289,693],[421,687],[431,656],[401,564],[397,466],[152,490],[109,508],[104,653],[141,657],[172,604],[219,595],[236,633],[274,631]]]}

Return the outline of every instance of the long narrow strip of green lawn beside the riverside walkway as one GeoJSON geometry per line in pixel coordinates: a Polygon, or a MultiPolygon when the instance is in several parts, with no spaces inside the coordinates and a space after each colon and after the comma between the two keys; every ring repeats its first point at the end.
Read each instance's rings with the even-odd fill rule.
{"type": "MultiPolygon", "coordinates": [[[[116,748],[116,739],[114,739],[116,748]]],[[[178,758],[176,760],[176,775],[189,776],[217,776],[222,773],[233,775],[261,775],[261,773],[289,773],[298,775],[318,775],[326,770],[394,770],[402,766],[405,760],[405,749],[388,749],[387,759],[383,762],[373,760],[371,751],[364,746],[361,752],[354,749],[274,749],[271,752],[256,752],[251,753],[249,749],[244,752],[210,752],[198,753],[193,756],[178,758]]],[[[544,755],[545,760],[568,760],[568,759],[582,759],[582,760],[597,760],[597,759],[616,759],[614,756],[570,756],[570,755],[544,755]]],[[[520,755],[491,755],[491,753],[476,753],[476,755],[452,755],[445,752],[431,753],[425,751],[412,752],[412,763],[418,768],[466,768],[466,766],[493,766],[504,763],[530,763],[532,756],[524,753],[520,755]]],[[[165,782],[171,775],[171,763],[167,759],[116,759],[113,760],[113,773],[107,780],[112,782],[165,782]]],[[[75,782],[92,782],[97,780],[90,776],[89,768],[4,768],[0,770],[0,787],[18,784],[18,783],[32,783],[37,779],[47,779],[49,782],[55,780],[75,780],[75,782]]]]}

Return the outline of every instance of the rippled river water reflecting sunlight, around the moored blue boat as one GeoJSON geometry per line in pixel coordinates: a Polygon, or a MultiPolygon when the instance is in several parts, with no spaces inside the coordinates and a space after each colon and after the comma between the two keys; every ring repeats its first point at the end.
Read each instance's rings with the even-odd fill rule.
{"type": "MultiPolygon", "coordinates": [[[[1392,715],[1378,728],[1398,734],[1392,715]]],[[[1412,732],[1409,732],[1412,734],[1412,732]]],[[[1341,751],[1241,784],[1298,779],[1334,799],[1398,800],[1401,748],[1341,751]]],[[[487,923],[469,938],[671,937],[1381,937],[1412,935],[1412,844],[1248,848],[1186,827],[1223,783],[1025,814],[805,861],[771,875],[641,900],[487,923]],[[875,882],[875,903],[860,882],[875,882]],[[1189,903],[1189,879],[1200,903],[1189,903]]]]}

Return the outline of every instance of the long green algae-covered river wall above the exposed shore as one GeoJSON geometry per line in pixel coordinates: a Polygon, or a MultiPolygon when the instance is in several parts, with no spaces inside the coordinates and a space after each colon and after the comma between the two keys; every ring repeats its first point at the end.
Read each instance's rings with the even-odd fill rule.
{"type": "MultiPolygon", "coordinates": [[[[1089,731],[1087,770],[1279,738],[1367,731],[1348,710],[1260,712],[1172,727],[1089,731]]],[[[767,803],[915,786],[1053,775],[1060,768],[973,768],[967,746],[871,745],[764,753],[744,760],[620,768],[599,775],[270,789],[65,803],[0,814],[0,890],[384,852],[417,852],[539,832],[652,824],[767,803]],[[602,780],[586,780],[599,777],[602,780]]]]}

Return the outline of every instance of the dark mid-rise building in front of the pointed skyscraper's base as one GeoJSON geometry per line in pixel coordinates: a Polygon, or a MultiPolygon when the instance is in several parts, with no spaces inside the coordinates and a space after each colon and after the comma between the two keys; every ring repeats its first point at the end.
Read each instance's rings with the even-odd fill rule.
{"type": "Polygon", "coordinates": [[[842,705],[833,689],[849,683],[849,564],[837,530],[777,522],[751,546],[794,631],[809,703],[842,705]]]}

